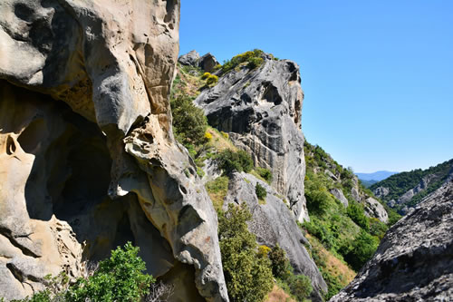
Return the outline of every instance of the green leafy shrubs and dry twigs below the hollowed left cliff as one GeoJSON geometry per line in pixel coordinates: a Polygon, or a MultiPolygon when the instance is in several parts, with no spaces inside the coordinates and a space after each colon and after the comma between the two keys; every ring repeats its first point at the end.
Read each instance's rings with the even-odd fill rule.
{"type": "MultiPolygon", "coordinates": [[[[134,248],[130,242],[124,248],[111,251],[111,258],[102,260],[99,267],[88,278],[78,278],[74,284],[69,284],[69,278],[61,273],[55,278],[46,277],[48,287],[16,302],[139,302],[143,298],[169,297],[172,289],[161,290],[158,296],[149,295],[155,279],[143,273],[145,262],[138,256],[139,248],[134,248]],[[162,296],[161,296],[162,295],[162,296]]],[[[156,288],[156,287],[153,287],[156,288]]],[[[169,288],[169,287],[166,287],[169,288]]]]}

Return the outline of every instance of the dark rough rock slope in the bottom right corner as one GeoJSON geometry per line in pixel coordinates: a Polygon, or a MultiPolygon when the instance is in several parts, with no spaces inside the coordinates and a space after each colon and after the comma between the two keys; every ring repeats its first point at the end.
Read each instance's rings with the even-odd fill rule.
{"type": "Polygon", "coordinates": [[[452,234],[450,180],[387,232],[359,275],[330,301],[450,301],[452,234]]]}

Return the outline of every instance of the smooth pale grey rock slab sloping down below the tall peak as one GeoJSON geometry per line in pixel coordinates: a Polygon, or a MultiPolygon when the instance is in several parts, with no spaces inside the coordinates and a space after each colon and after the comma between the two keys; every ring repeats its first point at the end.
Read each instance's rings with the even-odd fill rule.
{"type": "Polygon", "coordinates": [[[242,202],[246,202],[252,213],[248,227],[255,234],[257,242],[267,247],[274,247],[278,243],[290,259],[294,272],[312,279],[315,288],[313,301],[322,301],[320,293],[327,290],[327,285],[304,247],[309,246],[308,240],[297,226],[288,209],[289,205],[265,181],[257,180],[255,176],[244,172],[236,172],[229,181],[224,209],[227,209],[228,203],[238,205],[242,202]],[[265,202],[261,204],[255,193],[256,183],[267,192],[265,202]]]}

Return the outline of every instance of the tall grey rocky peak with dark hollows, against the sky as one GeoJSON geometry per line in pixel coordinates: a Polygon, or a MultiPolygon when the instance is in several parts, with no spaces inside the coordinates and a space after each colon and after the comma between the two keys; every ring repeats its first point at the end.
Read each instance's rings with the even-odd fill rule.
{"type": "Polygon", "coordinates": [[[228,132],[255,165],[272,170],[272,187],[290,202],[299,221],[308,220],[304,199],[304,93],[299,67],[270,57],[259,68],[240,66],[195,100],[209,124],[228,132]]]}

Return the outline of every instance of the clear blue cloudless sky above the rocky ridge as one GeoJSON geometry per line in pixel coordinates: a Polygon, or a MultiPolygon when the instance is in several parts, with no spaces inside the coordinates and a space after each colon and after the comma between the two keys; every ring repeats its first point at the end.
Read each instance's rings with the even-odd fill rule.
{"type": "Polygon", "coordinates": [[[357,172],[453,158],[453,1],[182,0],[180,54],[301,67],[303,131],[357,172]]]}

